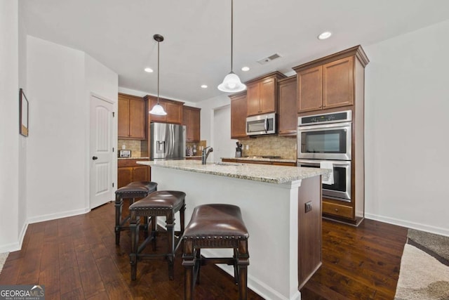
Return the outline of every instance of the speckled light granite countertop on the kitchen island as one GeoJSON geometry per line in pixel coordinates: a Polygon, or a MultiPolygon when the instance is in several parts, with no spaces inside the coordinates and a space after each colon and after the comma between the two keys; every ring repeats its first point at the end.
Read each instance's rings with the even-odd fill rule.
{"type": "Polygon", "coordinates": [[[267,183],[288,183],[304,178],[328,174],[330,172],[330,170],[319,168],[286,167],[266,164],[241,164],[236,162],[208,162],[207,164],[201,164],[198,160],[192,159],[162,160],[156,162],[143,161],[137,163],[152,167],[178,169],[267,183]]]}

